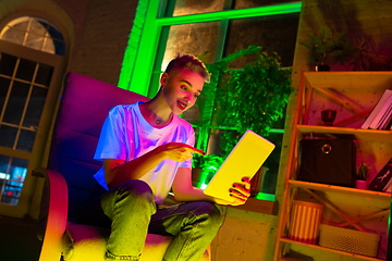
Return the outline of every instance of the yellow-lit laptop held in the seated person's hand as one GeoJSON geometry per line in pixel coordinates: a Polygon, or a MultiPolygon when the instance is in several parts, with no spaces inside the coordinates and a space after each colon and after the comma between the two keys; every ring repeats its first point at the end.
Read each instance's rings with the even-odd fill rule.
{"type": "Polygon", "coordinates": [[[246,130],[207,185],[206,195],[233,202],[229,189],[243,177],[250,178],[271,154],[274,145],[250,129],[246,130]]]}

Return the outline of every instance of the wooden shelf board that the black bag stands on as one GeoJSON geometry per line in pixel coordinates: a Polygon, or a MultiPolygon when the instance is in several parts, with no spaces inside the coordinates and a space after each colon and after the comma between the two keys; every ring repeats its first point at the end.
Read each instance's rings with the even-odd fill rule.
{"type": "Polygon", "coordinates": [[[292,181],[292,179],[289,181],[289,184],[291,187],[297,187],[297,188],[309,188],[309,189],[316,189],[316,190],[320,190],[320,191],[333,191],[333,192],[348,194],[352,196],[360,196],[360,197],[391,200],[391,194],[387,194],[387,192],[326,185],[326,184],[319,184],[319,183],[299,182],[299,181],[292,181]]]}

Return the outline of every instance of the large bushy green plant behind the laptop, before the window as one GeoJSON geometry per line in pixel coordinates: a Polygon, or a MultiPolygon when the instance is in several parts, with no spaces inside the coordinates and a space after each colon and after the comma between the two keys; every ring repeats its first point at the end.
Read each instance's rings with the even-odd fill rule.
{"type": "Polygon", "coordinates": [[[277,53],[268,55],[261,48],[254,55],[256,61],[244,70],[230,71],[225,86],[226,96],[220,95],[222,124],[233,130],[225,130],[221,137],[224,157],[234,148],[242,135],[252,129],[268,137],[270,128],[283,120],[291,88],[291,69],[282,69],[277,53]]]}

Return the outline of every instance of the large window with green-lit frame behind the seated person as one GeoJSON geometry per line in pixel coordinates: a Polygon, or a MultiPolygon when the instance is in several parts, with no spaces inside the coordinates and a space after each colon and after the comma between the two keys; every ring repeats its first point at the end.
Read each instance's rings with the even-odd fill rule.
{"type": "MultiPolygon", "coordinates": [[[[143,1],[139,1],[140,4],[143,1]]],[[[144,26],[136,24],[132,29],[120,87],[154,97],[159,88],[160,74],[176,53],[203,55],[204,62],[208,64],[254,45],[260,46],[269,54],[277,52],[283,66],[291,67],[293,64],[301,11],[298,1],[177,0],[152,4],[145,10],[144,26]],[[135,42],[132,37],[140,35],[140,29],[139,45],[132,46],[135,42]],[[130,58],[134,60],[130,61],[130,58]],[[140,86],[147,88],[140,89],[140,86]]],[[[135,21],[139,22],[138,18],[135,21]]],[[[232,66],[242,70],[248,62],[241,59],[232,66]]],[[[195,107],[184,117],[192,123],[197,120],[197,113],[198,108],[195,107]]],[[[206,133],[206,129],[194,127],[196,137],[206,137],[198,135],[206,133]]],[[[264,189],[270,194],[274,194],[283,129],[284,119],[281,119],[269,136],[277,145],[269,162],[266,162],[269,167],[266,178],[269,182],[266,182],[264,189]]],[[[219,136],[221,132],[224,130],[213,124],[209,127],[209,151],[215,151],[211,147],[218,146],[211,137],[213,134],[219,136]]]]}

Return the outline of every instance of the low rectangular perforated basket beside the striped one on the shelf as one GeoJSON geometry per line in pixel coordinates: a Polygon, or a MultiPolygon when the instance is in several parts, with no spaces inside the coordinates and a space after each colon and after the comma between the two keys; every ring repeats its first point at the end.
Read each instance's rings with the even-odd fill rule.
{"type": "Polygon", "coordinates": [[[320,224],[321,247],[376,257],[379,243],[377,234],[320,224]]]}

